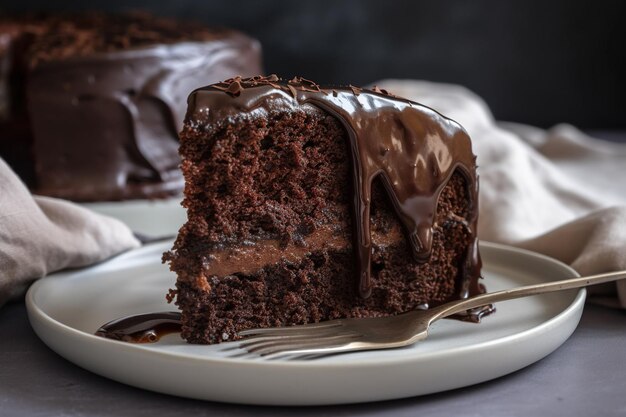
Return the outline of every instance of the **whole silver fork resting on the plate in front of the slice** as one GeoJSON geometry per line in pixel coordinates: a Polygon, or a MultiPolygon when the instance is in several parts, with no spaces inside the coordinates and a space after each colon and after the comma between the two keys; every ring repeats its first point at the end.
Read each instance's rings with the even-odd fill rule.
{"type": "Polygon", "coordinates": [[[261,356],[325,355],[356,350],[389,349],[412,345],[428,337],[435,321],[498,301],[585,287],[626,278],[626,271],[527,285],[453,301],[428,310],[396,316],[337,319],[299,326],[250,329],[239,346],[261,356]]]}

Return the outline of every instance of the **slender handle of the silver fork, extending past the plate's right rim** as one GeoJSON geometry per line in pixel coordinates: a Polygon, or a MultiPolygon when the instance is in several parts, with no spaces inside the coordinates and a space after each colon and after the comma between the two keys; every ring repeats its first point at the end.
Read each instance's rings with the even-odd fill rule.
{"type": "Polygon", "coordinates": [[[604,282],[617,281],[624,278],[626,278],[626,270],[607,272],[597,275],[589,275],[586,277],[564,279],[561,281],[546,282],[542,284],[526,285],[523,287],[511,288],[508,290],[481,294],[477,295],[476,297],[467,298],[461,301],[452,301],[439,307],[435,307],[435,309],[440,310],[440,312],[433,317],[431,323],[435,320],[451,316],[452,314],[467,311],[476,307],[482,307],[484,305],[495,303],[498,301],[513,300],[516,298],[527,297],[529,295],[544,294],[548,292],[568,290],[572,288],[581,288],[586,287],[587,285],[602,284],[604,282]]]}

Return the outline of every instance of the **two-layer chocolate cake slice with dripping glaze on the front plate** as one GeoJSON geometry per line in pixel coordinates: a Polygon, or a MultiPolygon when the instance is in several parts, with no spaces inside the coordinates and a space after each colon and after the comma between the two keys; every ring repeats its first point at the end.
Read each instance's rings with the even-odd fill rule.
{"type": "Polygon", "coordinates": [[[191,343],[484,292],[470,138],[427,107],[235,78],[190,95],[180,154],[188,221],[164,259],[191,343]]]}

